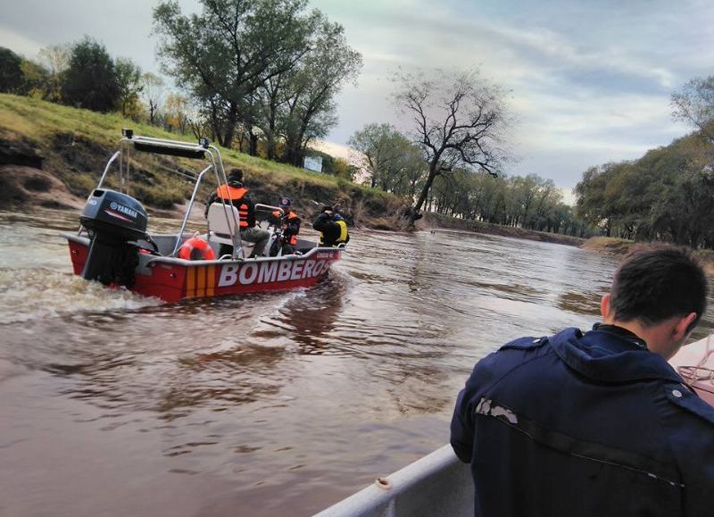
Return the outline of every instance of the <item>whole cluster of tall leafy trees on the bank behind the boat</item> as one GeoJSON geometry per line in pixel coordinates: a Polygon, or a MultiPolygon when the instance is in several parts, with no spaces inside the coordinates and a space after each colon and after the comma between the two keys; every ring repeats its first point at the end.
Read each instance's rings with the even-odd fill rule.
{"type": "Polygon", "coordinates": [[[305,0],[203,0],[184,16],[154,10],[163,71],[183,85],[212,136],[268,158],[302,165],[304,149],[336,124],[334,97],[356,78],[361,55],[344,29],[305,0]]]}

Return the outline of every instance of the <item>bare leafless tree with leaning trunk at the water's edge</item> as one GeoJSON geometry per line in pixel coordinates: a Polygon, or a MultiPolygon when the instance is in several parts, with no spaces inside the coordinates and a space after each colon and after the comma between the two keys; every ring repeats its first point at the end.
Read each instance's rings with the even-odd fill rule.
{"type": "Polygon", "coordinates": [[[501,88],[480,79],[477,71],[432,77],[397,73],[394,102],[414,123],[414,142],[426,155],[428,176],[412,211],[412,222],[437,176],[455,167],[499,171],[507,125],[501,88]]]}

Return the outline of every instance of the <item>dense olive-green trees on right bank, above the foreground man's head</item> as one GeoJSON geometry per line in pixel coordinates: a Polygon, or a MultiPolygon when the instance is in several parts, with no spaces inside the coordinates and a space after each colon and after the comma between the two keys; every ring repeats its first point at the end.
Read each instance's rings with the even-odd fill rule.
{"type": "Polygon", "coordinates": [[[591,167],[577,184],[577,213],[608,237],[714,247],[714,175],[699,134],[639,160],[591,167]]]}

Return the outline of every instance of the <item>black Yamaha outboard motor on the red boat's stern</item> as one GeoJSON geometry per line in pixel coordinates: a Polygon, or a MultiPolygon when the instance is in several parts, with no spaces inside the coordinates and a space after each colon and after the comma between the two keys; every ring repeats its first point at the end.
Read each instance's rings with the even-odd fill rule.
{"type": "Polygon", "coordinates": [[[130,288],[138,264],[135,242],[147,239],[146,211],[126,194],[97,188],[87,200],[79,221],[91,239],[82,278],[130,288]]]}

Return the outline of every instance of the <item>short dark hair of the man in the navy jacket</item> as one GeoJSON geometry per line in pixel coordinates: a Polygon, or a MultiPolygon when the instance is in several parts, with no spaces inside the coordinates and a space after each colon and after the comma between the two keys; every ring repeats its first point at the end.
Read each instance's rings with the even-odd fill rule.
{"type": "Polygon", "coordinates": [[[707,277],[693,252],[679,246],[647,246],[627,255],[615,272],[610,307],[616,320],[655,325],[707,308],[707,277]]]}

